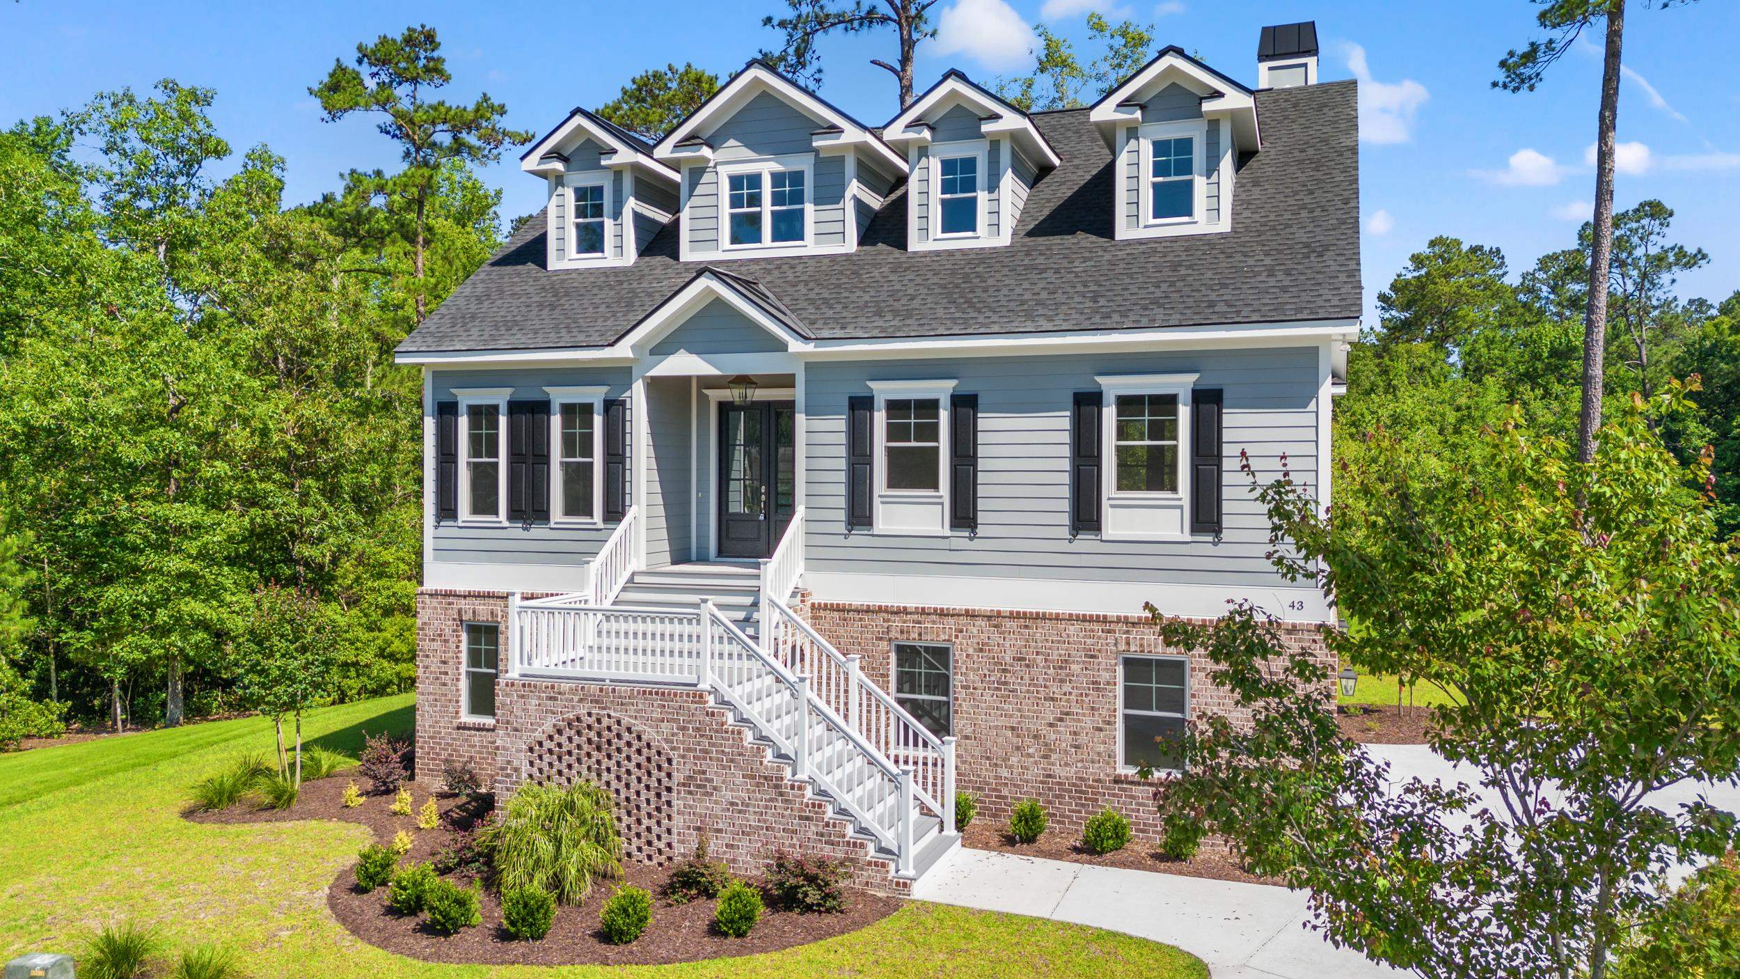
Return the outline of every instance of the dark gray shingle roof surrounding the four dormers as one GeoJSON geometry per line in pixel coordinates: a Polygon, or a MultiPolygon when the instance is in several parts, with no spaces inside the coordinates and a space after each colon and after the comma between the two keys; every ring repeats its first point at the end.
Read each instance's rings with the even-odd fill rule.
{"type": "MultiPolygon", "coordinates": [[[[1115,240],[1112,153],[1086,110],[1034,118],[1063,165],[1041,178],[1006,247],[905,251],[907,197],[854,254],[720,263],[811,334],[967,336],[1355,319],[1359,125],[1354,82],[1258,92],[1263,150],[1239,162],[1234,230],[1115,240]]],[[[677,260],[677,223],[623,268],[545,270],[527,221],[398,350],[600,347],[706,263],[677,260]]]]}

